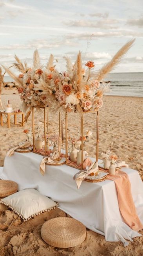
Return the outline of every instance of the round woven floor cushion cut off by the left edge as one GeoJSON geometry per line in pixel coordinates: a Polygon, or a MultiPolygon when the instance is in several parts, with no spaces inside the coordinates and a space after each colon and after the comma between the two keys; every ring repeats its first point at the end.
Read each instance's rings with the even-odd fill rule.
{"type": "Polygon", "coordinates": [[[0,180],[0,197],[7,197],[18,191],[18,184],[12,180],[0,180]]]}

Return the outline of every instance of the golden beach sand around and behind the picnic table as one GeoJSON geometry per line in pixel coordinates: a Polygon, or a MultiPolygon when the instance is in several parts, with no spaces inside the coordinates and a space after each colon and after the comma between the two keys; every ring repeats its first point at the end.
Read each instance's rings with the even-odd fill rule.
{"type": "MultiPolygon", "coordinates": [[[[20,108],[19,95],[2,95],[2,103],[5,108],[7,100],[10,100],[14,109],[20,108]]],[[[124,96],[104,96],[103,108],[99,111],[99,135],[100,150],[105,152],[113,142],[113,152],[123,158],[129,167],[138,170],[143,180],[143,98],[124,96]]],[[[36,113],[36,123],[41,120],[41,115],[36,113]]],[[[62,114],[63,123],[65,115],[62,114]]],[[[21,121],[20,119],[18,119],[21,121]]],[[[11,119],[13,122],[13,120],[11,119]]],[[[69,135],[79,136],[80,117],[78,114],[69,114],[69,135]]],[[[29,117],[24,127],[14,126],[8,129],[6,118],[4,126],[0,126],[0,166],[4,164],[7,149],[12,145],[26,139],[24,129],[31,127],[29,117]]],[[[58,114],[49,115],[50,132],[58,132],[58,114]]],[[[84,130],[92,131],[92,138],[85,143],[85,149],[89,156],[94,157],[96,152],[96,114],[85,114],[84,130]]],[[[41,238],[42,224],[54,217],[67,216],[60,209],[42,213],[36,218],[23,223],[13,211],[0,205],[0,256],[27,255],[27,256],[136,256],[143,255],[143,237],[134,238],[128,247],[121,243],[106,242],[99,234],[87,230],[85,241],[76,247],[69,249],[57,249],[47,245],[41,238]]],[[[143,231],[140,232],[143,234],[143,231]]]]}

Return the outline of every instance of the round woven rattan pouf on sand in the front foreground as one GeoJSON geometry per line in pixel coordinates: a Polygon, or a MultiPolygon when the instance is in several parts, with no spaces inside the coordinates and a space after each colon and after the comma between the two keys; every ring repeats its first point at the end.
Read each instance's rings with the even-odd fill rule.
{"type": "Polygon", "coordinates": [[[85,240],[86,228],[75,219],[58,217],[43,224],[41,236],[49,245],[69,248],[79,245],[85,240]]]}

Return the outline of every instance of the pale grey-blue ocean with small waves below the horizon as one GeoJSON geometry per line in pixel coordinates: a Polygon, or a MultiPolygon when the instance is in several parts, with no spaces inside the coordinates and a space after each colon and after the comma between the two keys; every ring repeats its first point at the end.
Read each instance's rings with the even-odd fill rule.
{"type": "MultiPolygon", "coordinates": [[[[11,82],[9,76],[4,76],[5,82],[11,82]]],[[[143,72],[110,73],[105,81],[110,81],[110,91],[107,95],[143,97],[143,72]]]]}

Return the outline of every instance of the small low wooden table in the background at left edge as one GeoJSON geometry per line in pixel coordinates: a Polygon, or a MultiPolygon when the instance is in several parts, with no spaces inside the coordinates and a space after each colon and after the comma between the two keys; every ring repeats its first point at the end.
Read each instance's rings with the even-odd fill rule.
{"type": "Polygon", "coordinates": [[[17,115],[22,115],[22,123],[21,126],[24,126],[24,113],[23,112],[11,112],[11,113],[6,113],[6,112],[0,112],[0,124],[1,126],[3,126],[3,117],[2,115],[7,115],[7,127],[10,128],[11,124],[10,124],[10,117],[11,115],[14,115],[14,124],[18,124],[17,123],[17,115]]]}

